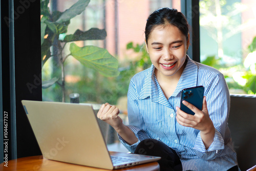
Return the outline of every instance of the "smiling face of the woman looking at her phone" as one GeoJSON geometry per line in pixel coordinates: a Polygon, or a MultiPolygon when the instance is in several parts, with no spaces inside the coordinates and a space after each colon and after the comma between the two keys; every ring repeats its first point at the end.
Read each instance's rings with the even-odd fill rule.
{"type": "Polygon", "coordinates": [[[147,40],[147,52],[155,66],[156,76],[179,79],[186,60],[188,39],[178,27],[167,24],[156,26],[147,40]]]}

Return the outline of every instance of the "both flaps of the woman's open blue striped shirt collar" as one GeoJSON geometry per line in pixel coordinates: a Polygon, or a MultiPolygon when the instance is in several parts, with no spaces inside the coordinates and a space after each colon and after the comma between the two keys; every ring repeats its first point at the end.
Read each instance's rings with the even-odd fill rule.
{"type": "MultiPolygon", "coordinates": [[[[184,71],[181,74],[177,87],[172,96],[177,96],[182,89],[189,87],[197,86],[197,77],[198,77],[198,66],[195,61],[191,60],[187,56],[187,63],[184,71]]],[[[152,101],[158,101],[159,90],[157,88],[157,83],[155,82],[155,67],[151,66],[149,69],[141,92],[138,95],[139,99],[145,99],[150,96],[152,101]]]]}

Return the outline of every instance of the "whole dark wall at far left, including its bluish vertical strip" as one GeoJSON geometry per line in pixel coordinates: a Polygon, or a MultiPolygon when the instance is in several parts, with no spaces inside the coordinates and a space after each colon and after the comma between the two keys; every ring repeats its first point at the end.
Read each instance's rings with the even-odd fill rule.
{"type": "MultiPolygon", "coordinates": [[[[24,99],[42,99],[39,0],[1,1],[1,43],[3,101],[0,105],[8,113],[8,152],[5,153],[8,160],[40,155],[21,103],[24,99]]],[[[0,152],[2,156],[2,149],[0,152]]]]}

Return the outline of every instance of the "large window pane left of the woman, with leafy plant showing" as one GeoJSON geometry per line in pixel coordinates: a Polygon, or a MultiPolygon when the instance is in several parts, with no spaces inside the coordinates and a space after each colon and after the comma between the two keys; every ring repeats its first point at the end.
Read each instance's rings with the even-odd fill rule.
{"type": "MultiPolygon", "coordinates": [[[[180,11],[180,1],[41,0],[42,99],[78,102],[79,97],[96,112],[109,102],[127,123],[130,79],[151,66],[144,46],[146,18],[161,7],[180,11]]],[[[117,149],[112,127],[99,123],[110,150],[125,151],[117,149]]]]}

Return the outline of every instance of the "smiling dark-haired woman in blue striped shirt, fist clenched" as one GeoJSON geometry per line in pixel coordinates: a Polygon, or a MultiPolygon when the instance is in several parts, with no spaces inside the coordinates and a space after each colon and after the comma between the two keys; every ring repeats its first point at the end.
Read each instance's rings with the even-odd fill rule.
{"type": "Polygon", "coordinates": [[[227,126],[229,92],[223,75],[191,60],[188,24],[176,9],[162,8],[147,19],[145,43],[152,67],[130,82],[129,125],[119,110],[102,104],[97,116],[114,127],[132,153],[160,156],[161,170],[239,170],[227,126]],[[204,86],[202,110],[182,101],[181,90],[204,86]]]}

